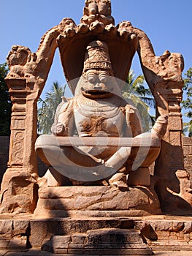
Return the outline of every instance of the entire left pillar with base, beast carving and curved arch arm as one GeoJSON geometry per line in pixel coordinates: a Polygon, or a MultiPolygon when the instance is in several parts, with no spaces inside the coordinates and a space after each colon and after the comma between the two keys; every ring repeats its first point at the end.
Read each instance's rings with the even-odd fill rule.
{"type": "Polygon", "coordinates": [[[6,81],[12,99],[9,162],[1,183],[0,213],[31,213],[37,204],[37,99],[50,71],[56,38],[66,24],[55,26],[41,39],[36,53],[13,45],[7,56],[6,81]]]}

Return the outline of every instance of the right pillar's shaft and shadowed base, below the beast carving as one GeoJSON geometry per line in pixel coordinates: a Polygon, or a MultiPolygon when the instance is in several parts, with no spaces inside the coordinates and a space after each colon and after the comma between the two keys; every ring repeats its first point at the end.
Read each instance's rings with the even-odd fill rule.
{"type": "Polygon", "coordinates": [[[180,194],[178,170],[184,170],[183,157],[183,122],[180,102],[182,100],[183,83],[166,83],[164,94],[165,109],[169,116],[168,129],[161,142],[161,153],[155,161],[155,176],[158,176],[156,190],[161,201],[161,208],[165,212],[181,213],[191,207],[180,194]]]}

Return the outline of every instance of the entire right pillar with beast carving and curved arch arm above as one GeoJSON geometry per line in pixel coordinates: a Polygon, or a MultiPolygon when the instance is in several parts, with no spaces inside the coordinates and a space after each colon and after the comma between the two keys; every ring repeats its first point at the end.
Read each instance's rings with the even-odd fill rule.
{"type": "Polygon", "coordinates": [[[184,169],[182,143],[182,100],[184,68],[183,56],[166,50],[161,56],[155,56],[150,39],[144,31],[134,28],[131,23],[127,30],[138,39],[137,53],[145,75],[145,80],[155,98],[157,117],[169,117],[164,139],[161,141],[161,153],[155,161],[155,189],[161,201],[163,211],[179,212],[190,208],[190,204],[180,193],[180,180],[177,171],[184,169]]]}

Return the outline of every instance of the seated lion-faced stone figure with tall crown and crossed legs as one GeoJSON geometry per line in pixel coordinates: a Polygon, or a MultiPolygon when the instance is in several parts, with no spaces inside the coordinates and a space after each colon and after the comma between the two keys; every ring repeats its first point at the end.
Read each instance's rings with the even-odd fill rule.
{"type": "MultiPolygon", "coordinates": [[[[77,131],[80,138],[96,137],[99,141],[108,137],[126,139],[147,136],[153,143],[154,138],[160,141],[164,136],[166,124],[166,116],[160,116],[151,134],[142,134],[137,109],[132,102],[126,102],[120,93],[107,44],[96,40],[87,46],[75,97],[59,106],[52,132],[56,137],[64,138],[74,136],[77,131]]],[[[139,146],[133,149],[131,146],[101,146],[99,143],[98,146],[53,146],[53,135],[42,135],[36,143],[39,157],[50,166],[50,175],[57,177],[55,184],[48,181],[50,186],[64,185],[64,175],[76,185],[115,184],[127,187],[128,173],[131,173],[134,162],[140,161],[137,156],[139,146]],[[49,141],[51,147],[47,146],[49,141]]],[[[155,148],[148,146],[146,152],[139,156],[144,158],[137,166],[137,171],[140,167],[142,173],[158,157],[160,143],[156,142],[155,148]]],[[[136,179],[131,183],[149,186],[149,173],[146,172],[146,175],[144,180],[136,179]]]]}

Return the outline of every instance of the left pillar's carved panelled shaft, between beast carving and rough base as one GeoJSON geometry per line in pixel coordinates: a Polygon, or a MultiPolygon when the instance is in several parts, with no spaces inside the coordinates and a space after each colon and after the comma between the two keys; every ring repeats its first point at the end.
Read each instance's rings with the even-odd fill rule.
{"type": "Polygon", "coordinates": [[[37,99],[39,89],[26,79],[7,79],[12,99],[9,170],[22,169],[37,173],[37,155],[34,143],[37,139],[37,99]]]}

